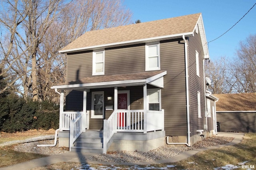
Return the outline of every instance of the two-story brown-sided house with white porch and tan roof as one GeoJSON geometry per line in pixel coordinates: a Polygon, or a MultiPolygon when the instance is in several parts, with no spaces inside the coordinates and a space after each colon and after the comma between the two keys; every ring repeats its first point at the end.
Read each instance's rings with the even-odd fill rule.
{"type": "Polygon", "coordinates": [[[60,53],[66,82],[52,87],[60,94],[59,146],[148,151],[216,132],[202,14],[88,31],[60,53]]]}

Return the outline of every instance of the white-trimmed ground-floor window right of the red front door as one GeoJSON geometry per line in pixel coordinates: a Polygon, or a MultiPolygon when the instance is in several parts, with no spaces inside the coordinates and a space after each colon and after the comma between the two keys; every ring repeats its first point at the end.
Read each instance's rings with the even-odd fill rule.
{"type": "Polygon", "coordinates": [[[160,90],[156,89],[148,89],[148,109],[149,110],[157,110],[160,111],[160,90]]]}

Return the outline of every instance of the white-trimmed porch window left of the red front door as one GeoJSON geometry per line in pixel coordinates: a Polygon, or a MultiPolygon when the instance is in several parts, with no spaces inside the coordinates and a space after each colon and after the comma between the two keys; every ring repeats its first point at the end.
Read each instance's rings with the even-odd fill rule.
{"type": "Polygon", "coordinates": [[[104,92],[92,92],[92,115],[91,118],[104,117],[104,92]]]}

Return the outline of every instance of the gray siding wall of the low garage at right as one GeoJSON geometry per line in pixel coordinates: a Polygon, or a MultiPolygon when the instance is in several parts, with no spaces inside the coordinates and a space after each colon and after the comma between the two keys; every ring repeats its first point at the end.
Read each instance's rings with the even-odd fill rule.
{"type": "Polygon", "coordinates": [[[250,127],[249,132],[256,133],[256,111],[216,113],[217,121],[220,122],[221,132],[247,132],[246,127],[250,127]]]}

